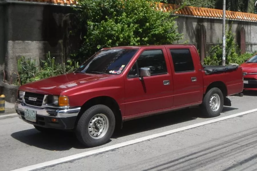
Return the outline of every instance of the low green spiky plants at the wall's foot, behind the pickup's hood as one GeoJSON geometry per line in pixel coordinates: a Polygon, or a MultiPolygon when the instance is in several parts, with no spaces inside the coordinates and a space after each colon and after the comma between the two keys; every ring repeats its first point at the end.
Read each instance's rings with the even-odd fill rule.
{"type": "Polygon", "coordinates": [[[29,82],[67,74],[79,68],[79,63],[68,60],[67,64],[55,64],[55,58],[51,58],[50,52],[46,55],[46,60],[40,59],[41,70],[36,66],[36,61],[24,56],[18,60],[18,74],[17,85],[23,85],[29,82]]]}

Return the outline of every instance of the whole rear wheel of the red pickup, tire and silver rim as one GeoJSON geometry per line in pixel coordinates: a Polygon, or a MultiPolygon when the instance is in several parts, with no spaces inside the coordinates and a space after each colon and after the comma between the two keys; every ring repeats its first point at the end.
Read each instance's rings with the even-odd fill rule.
{"type": "Polygon", "coordinates": [[[222,112],[224,105],[224,96],[222,91],[217,88],[211,88],[204,96],[200,105],[202,113],[206,117],[217,117],[222,112]]]}

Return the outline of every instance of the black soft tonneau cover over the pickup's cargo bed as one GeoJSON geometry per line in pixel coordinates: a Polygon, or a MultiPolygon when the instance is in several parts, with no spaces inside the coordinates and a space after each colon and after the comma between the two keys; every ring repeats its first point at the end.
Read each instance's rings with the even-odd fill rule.
{"type": "Polygon", "coordinates": [[[211,66],[211,65],[203,65],[205,74],[213,74],[218,72],[226,72],[226,71],[233,71],[238,68],[236,65],[232,66],[211,66]]]}

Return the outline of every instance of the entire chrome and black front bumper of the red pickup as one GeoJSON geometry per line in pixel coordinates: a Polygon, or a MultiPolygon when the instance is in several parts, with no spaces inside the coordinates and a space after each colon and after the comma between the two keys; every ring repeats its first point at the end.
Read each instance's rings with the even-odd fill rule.
{"type": "Polygon", "coordinates": [[[37,125],[45,128],[69,130],[74,128],[77,116],[81,108],[38,108],[31,107],[17,101],[15,102],[15,109],[20,119],[32,125],[37,125]],[[25,119],[24,111],[26,109],[37,112],[36,122],[28,121],[25,119]],[[53,122],[52,119],[56,119],[56,121],[53,122]]]}

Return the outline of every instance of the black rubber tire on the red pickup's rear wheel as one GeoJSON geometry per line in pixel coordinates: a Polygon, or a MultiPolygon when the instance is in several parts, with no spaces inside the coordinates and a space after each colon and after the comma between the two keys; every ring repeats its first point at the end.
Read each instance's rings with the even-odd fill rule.
{"type": "Polygon", "coordinates": [[[220,115],[220,113],[222,112],[223,109],[223,105],[224,105],[224,95],[222,93],[222,91],[217,88],[211,88],[204,96],[204,99],[202,101],[202,104],[200,105],[200,108],[202,110],[202,114],[206,117],[217,117],[220,115]],[[216,107],[218,107],[215,110],[212,110],[210,107],[210,99],[211,97],[215,95],[218,96],[220,99],[220,105],[218,107],[218,105],[216,107]]]}

